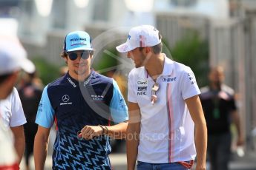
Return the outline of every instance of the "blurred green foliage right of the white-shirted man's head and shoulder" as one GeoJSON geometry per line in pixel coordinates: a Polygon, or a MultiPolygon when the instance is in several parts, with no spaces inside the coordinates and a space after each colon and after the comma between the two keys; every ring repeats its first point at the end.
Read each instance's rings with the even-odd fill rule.
{"type": "Polygon", "coordinates": [[[191,67],[197,78],[198,86],[208,83],[209,44],[202,41],[197,33],[186,35],[171,50],[174,61],[191,67]]]}

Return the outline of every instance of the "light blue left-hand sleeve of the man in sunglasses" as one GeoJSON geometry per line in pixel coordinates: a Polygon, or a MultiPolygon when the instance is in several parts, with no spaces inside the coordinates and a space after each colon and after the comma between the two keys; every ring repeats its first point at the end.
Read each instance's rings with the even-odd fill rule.
{"type": "Polygon", "coordinates": [[[54,122],[54,110],[53,106],[50,104],[50,100],[47,94],[47,87],[48,86],[45,86],[45,89],[42,92],[42,98],[36,114],[36,123],[39,124],[39,126],[50,128],[53,126],[54,122]]]}

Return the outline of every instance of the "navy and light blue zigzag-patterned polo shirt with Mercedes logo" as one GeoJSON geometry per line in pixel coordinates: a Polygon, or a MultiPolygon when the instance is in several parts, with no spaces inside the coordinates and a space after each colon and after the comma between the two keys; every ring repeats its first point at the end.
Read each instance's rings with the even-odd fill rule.
{"type": "Polygon", "coordinates": [[[79,140],[77,132],[85,125],[125,120],[128,109],[116,81],[93,70],[85,81],[67,73],[45,86],[36,115],[39,126],[50,128],[56,123],[53,169],[111,169],[109,137],[79,140]]]}

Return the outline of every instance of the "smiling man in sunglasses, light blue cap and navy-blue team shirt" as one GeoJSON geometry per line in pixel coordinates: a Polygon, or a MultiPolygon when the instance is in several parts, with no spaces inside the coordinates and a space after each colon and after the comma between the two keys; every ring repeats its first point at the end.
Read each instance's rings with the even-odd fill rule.
{"type": "Polygon", "coordinates": [[[45,86],[36,115],[36,170],[44,169],[54,122],[53,169],[111,169],[109,137],[122,138],[128,109],[116,81],[91,69],[92,57],[88,33],[66,35],[62,58],[68,73],[45,86]]]}

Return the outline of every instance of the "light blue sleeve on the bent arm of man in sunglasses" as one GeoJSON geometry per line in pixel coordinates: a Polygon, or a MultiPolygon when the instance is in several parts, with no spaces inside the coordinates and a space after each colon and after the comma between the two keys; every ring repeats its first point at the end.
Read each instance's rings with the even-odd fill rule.
{"type": "Polygon", "coordinates": [[[122,97],[122,93],[114,80],[113,86],[114,91],[110,104],[111,117],[114,120],[114,123],[121,123],[128,120],[128,108],[126,106],[125,99],[122,97]]]}

